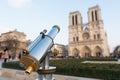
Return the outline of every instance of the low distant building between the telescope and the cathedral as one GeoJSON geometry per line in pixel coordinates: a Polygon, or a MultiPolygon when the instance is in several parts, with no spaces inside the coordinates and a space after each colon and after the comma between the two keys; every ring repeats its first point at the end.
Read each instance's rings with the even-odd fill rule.
{"type": "MultiPolygon", "coordinates": [[[[68,47],[62,44],[54,44],[52,47],[52,52],[57,51],[57,57],[65,57],[68,55],[68,47]]],[[[52,54],[54,56],[54,54],[52,54]]]]}

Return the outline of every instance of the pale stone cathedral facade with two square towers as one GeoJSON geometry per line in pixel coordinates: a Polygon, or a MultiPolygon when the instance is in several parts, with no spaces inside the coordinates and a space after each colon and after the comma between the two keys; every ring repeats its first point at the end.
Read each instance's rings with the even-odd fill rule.
{"type": "Polygon", "coordinates": [[[107,34],[98,5],[88,9],[88,23],[82,22],[79,11],[69,15],[69,56],[109,56],[107,34]]]}

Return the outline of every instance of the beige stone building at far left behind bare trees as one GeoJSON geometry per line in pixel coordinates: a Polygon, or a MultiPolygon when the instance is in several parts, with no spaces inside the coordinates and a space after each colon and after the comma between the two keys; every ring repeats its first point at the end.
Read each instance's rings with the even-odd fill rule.
{"type": "Polygon", "coordinates": [[[0,35],[0,53],[4,54],[4,50],[7,48],[8,54],[16,58],[29,43],[30,41],[26,40],[23,32],[13,30],[2,33],[0,35]]]}

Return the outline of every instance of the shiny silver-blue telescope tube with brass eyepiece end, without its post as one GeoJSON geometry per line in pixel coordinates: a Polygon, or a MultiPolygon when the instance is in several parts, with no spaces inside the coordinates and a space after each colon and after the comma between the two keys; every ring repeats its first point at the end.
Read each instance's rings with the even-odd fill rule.
{"type": "Polygon", "coordinates": [[[40,64],[47,56],[47,51],[53,46],[53,39],[59,31],[60,28],[57,25],[53,26],[47,35],[45,35],[46,30],[44,30],[28,46],[27,50],[23,51],[20,62],[26,68],[25,73],[30,74],[39,69],[40,64]]]}

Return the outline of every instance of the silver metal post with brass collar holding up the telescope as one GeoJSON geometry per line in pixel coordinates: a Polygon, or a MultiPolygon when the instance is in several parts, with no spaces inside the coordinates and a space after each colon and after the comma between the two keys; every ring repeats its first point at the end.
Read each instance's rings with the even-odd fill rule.
{"type": "Polygon", "coordinates": [[[42,62],[40,69],[37,71],[38,78],[36,80],[55,80],[53,78],[53,72],[56,71],[56,67],[49,66],[49,55],[51,53],[51,50],[47,52],[47,56],[42,62]]]}

